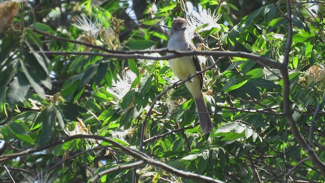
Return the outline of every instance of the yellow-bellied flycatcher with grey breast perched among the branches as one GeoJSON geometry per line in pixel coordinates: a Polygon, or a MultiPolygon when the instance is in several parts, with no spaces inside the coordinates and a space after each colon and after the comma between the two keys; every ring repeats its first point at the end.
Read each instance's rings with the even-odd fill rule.
{"type": "MultiPolygon", "coordinates": [[[[168,41],[167,48],[180,51],[196,50],[196,47],[190,41],[187,22],[184,18],[176,18],[173,21],[171,38],[168,41]]],[[[186,80],[188,76],[202,70],[197,56],[173,58],[168,60],[168,62],[172,71],[180,80],[186,80]]],[[[202,95],[203,74],[193,77],[191,81],[185,82],[185,85],[194,98],[203,133],[212,132],[213,125],[202,95]]]]}

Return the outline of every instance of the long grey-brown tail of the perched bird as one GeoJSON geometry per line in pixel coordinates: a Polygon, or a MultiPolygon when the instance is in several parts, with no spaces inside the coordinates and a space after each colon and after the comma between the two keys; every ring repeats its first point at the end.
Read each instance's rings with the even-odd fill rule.
{"type": "Polygon", "coordinates": [[[207,110],[207,106],[205,104],[204,98],[196,99],[194,98],[195,104],[197,105],[198,113],[199,113],[199,121],[201,125],[201,129],[203,133],[211,133],[213,130],[213,124],[207,110]]]}

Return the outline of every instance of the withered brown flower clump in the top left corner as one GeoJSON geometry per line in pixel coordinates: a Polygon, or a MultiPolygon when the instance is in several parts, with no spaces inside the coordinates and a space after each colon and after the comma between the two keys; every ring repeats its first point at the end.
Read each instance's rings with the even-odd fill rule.
{"type": "Polygon", "coordinates": [[[16,2],[4,2],[0,4],[0,33],[12,23],[18,13],[19,7],[16,2]]]}

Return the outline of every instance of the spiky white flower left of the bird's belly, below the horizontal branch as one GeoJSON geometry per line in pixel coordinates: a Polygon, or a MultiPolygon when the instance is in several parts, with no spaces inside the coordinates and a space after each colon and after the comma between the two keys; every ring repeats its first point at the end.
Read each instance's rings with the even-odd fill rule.
{"type": "Polygon", "coordinates": [[[107,91],[119,101],[131,89],[131,85],[136,78],[137,75],[131,70],[124,71],[122,77],[117,75],[117,81],[114,81],[112,84],[113,87],[107,88],[107,91]]]}

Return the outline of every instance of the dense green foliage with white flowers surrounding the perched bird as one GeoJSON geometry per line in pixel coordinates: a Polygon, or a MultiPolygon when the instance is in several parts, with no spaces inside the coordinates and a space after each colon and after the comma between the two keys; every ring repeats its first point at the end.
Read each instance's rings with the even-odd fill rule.
{"type": "MultiPolygon", "coordinates": [[[[21,2],[10,25],[0,17],[7,25],[0,34],[0,162],[5,165],[0,180],[11,182],[11,175],[15,181],[95,181],[105,170],[139,160],[117,143],[221,181],[324,181],[321,165],[310,155],[325,158],[325,112],[316,110],[324,95],[323,5],[287,1],[290,28],[285,1],[249,1],[246,7],[243,2],[35,1],[21,2]],[[184,10],[189,15],[202,9],[206,14],[201,11],[193,42],[207,42],[199,45],[207,51],[238,53],[220,57],[217,68],[205,72],[211,134],[196,124],[196,106],[185,85],[173,87],[177,80],[167,60],[152,59],[166,54],[155,51],[165,48],[169,37],[169,29],[159,25],[171,26],[184,10]],[[209,16],[218,23],[204,19],[209,16]],[[272,67],[262,58],[284,64],[287,59],[287,67],[272,67]],[[74,135],[100,138],[67,140],[74,135]],[[297,135],[312,140],[309,151],[297,135]]],[[[206,56],[206,67],[219,56],[206,56]]],[[[141,182],[198,181],[148,161],[136,169],[141,182]]],[[[132,177],[128,167],[98,181],[132,182],[132,177]]]]}

